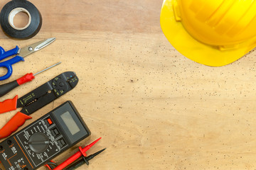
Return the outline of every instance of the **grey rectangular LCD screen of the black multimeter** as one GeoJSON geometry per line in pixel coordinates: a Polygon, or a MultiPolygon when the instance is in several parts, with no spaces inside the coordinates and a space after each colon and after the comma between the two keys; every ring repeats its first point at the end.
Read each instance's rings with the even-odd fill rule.
{"type": "Polygon", "coordinates": [[[60,115],[60,118],[62,118],[63,122],[67,125],[71,135],[75,135],[75,133],[80,131],[78,125],[68,111],[60,115]]]}

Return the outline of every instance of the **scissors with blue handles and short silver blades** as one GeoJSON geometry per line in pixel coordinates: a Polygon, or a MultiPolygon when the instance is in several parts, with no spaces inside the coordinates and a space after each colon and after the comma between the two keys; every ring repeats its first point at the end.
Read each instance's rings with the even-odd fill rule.
{"type": "Polygon", "coordinates": [[[11,74],[13,72],[12,64],[24,61],[24,57],[31,55],[33,52],[41,50],[43,47],[50,45],[50,43],[52,43],[53,41],[55,41],[55,38],[48,38],[46,40],[36,42],[23,48],[19,48],[18,46],[16,46],[14,49],[9,51],[4,51],[4,48],[0,47],[0,61],[4,60],[7,57],[11,57],[12,55],[16,55],[16,57],[11,58],[10,60],[0,62],[0,67],[5,67],[8,70],[6,75],[0,77],[0,81],[11,77],[11,74]]]}

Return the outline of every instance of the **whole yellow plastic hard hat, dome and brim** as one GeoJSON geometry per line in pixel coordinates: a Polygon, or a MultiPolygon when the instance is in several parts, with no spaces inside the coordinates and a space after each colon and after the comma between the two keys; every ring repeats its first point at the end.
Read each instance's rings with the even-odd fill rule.
{"type": "Polygon", "coordinates": [[[171,45],[201,64],[230,64],[256,46],[255,0],[165,0],[160,22],[171,45]]]}

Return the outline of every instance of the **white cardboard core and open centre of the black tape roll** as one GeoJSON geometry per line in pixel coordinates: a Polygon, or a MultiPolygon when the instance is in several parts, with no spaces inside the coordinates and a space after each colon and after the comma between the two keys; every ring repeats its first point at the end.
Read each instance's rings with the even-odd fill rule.
{"type": "Polygon", "coordinates": [[[8,19],[11,27],[16,30],[24,30],[31,24],[31,14],[26,8],[14,8],[8,19]]]}

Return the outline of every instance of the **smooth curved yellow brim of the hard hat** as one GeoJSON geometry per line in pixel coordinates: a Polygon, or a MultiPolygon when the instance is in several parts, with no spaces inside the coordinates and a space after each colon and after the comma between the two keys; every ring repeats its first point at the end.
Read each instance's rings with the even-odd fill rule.
{"type": "Polygon", "coordinates": [[[163,3],[160,16],[161,28],[171,45],[190,60],[212,67],[220,67],[235,62],[254,49],[255,39],[243,42],[239,47],[230,50],[220,50],[218,47],[199,42],[186,31],[181,22],[176,21],[172,1],[166,0],[163,3]]]}

